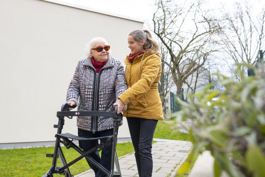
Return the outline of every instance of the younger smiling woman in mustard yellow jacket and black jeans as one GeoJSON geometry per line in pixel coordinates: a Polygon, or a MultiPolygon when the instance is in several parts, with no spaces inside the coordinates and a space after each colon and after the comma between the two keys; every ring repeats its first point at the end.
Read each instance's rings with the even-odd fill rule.
{"type": "Polygon", "coordinates": [[[158,120],[163,120],[162,104],[158,93],[161,75],[159,46],[148,30],[136,29],[128,36],[131,50],[125,59],[125,79],[128,89],[113,105],[127,118],[135,150],[139,177],[151,177],[153,169],[152,140],[158,120]]]}

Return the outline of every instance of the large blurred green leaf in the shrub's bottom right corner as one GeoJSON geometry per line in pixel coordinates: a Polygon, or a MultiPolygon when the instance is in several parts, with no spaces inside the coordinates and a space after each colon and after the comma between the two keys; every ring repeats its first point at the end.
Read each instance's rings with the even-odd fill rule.
{"type": "Polygon", "coordinates": [[[255,176],[265,176],[265,157],[257,145],[250,145],[246,152],[248,170],[255,176]]]}

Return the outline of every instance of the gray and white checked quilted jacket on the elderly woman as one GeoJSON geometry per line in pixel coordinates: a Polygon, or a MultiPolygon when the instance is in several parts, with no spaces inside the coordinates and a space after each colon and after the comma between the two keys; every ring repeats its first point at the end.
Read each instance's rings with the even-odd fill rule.
{"type": "MultiPolygon", "coordinates": [[[[73,79],[67,90],[67,101],[80,97],[78,111],[114,111],[113,103],[127,89],[125,74],[121,61],[109,56],[107,63],[99,73],[91,58],[78,62],[73,79]],[[115,79],[118,79],[114,88],[115,79]]],[[[117,123],[122,125],[122,121],[117,123]]],[[[91,132],[113,128],[113,118],[103,116],[78,116],[77,127],[91,132]]]]}

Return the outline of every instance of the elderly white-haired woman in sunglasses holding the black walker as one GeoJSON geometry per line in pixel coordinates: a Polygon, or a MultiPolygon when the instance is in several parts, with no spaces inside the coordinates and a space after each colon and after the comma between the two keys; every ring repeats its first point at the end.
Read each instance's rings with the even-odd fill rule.
{"type": "MultiPolygon", "coordinates": [[[[110,56],[110,46],[101,37],[93,38],[86,45],[87,58],[78,62],[73,79],[67,91],[67,103],[77,105],[78,111],[114,111],[113,103],[126,89],[125,74],[121,61],[110,56]],[[118,79],[116,87],[115,80],[118,79]],[[78,102],[78,97],[80,97],[78,102]]],[[[78,116],[78,136],[102,137],[113,134],[113,118],[103,116],[78,116]]],[[[117,123],[121,126],[122,121],[117,123]]],[[[104,139],[102,139],[104,141],[104,139]]],[[[85,152],[95,147],[94,141],[79,141],[85,152]]],[[[111,170],[112,146],[90,154],[107,170],[111,170]]],[[[96,177],[105,176],[92,163],[87,161],[96,177]]]]}

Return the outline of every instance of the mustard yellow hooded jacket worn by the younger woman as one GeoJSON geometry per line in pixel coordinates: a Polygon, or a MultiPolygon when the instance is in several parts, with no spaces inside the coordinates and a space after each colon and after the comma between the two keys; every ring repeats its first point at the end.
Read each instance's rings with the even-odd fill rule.
{"type": "Polygon", "coordinates": [[[124,60],[125,79],[128,89],[118,98],[127,105],[125,117],[163,120],[162,104],[158,93],[161,76],[161,57],[159,54],[142,54],[133,63],[124,60]]]}

